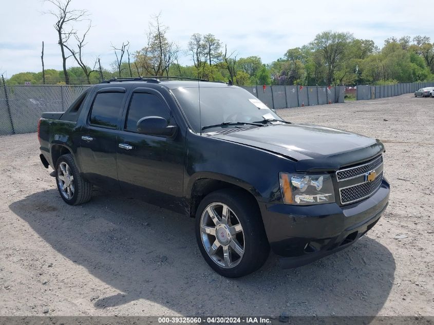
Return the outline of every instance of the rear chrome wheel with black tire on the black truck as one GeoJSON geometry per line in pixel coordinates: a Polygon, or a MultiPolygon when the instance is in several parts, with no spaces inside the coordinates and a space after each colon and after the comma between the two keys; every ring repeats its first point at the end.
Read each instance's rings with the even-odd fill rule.
{"type": "Polygon", "coordinates": [[[59,194],[66,203],[77,205],[90,200],[92,185],[80,175],[71,154],[59,157],[55,176],[59,194]]]}

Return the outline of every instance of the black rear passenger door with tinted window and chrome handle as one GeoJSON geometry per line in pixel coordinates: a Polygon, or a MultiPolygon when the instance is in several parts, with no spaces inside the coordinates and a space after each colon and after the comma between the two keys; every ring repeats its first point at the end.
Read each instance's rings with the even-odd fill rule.
{"type": "Polygon", "coordinates": [[[106,190],[119,189],[116,148],[125,92],[121,87],[100,89],[80,132],[82,173],[106,190]]]}

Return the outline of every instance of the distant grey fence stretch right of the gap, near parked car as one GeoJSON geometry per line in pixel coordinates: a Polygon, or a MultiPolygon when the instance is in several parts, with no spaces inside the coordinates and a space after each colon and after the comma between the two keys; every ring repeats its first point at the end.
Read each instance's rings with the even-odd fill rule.
{"type": "Polygon", "coordinates": [[[399,96],[404,93],[412,93],[421,88],[434,87],[434,82],[413,82],[406,84],[395,84],[386,86],[357,86],[357,100],[366,101],[370,99],[399,96]]]}

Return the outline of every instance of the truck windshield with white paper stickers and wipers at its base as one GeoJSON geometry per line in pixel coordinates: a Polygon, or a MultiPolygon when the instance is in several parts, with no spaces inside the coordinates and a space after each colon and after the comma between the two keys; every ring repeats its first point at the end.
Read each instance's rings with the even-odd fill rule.
{"type": "MultiPolygon", "coordinates": [[[[252,123],[281,118],[254,95],[242,88],[200,87],[172,89],[182,110],[196,133],[201,127],[224,122],[252,123]],[[200,112],[199,112],[200,89],[200,112]]],[[[234,127],[227,125],[225,127],[234,127]]],[[[239,127],[239,125],[238,125],[239,127]]]]}

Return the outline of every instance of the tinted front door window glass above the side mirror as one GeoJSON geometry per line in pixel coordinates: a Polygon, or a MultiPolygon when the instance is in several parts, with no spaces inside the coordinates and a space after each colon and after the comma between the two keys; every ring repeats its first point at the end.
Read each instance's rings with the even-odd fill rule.
{"type": "Polygon", "coordinates": [[[161,99],[152,93],[134,93],[129,104],[125,128],[129,131],[136,131],[137,122],[148,116],[159,116],[170,123],[169,111],[161,99]]]}

